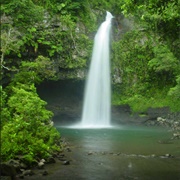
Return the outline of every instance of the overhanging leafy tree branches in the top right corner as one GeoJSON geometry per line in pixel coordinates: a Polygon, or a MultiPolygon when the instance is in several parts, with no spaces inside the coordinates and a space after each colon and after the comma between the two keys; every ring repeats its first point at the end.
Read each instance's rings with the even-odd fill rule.
{"type": "MultiPolygon", "coordinates": [[[[179,38],[179,8],[178,1],[125,1],[121,6],[126,16],[133,16],[142,27],[157,32],[163,39],[169,41],[171,49],[176,47],[179,38]]],[[[179,51],[177,47],[174,53],[179,51]]]]}

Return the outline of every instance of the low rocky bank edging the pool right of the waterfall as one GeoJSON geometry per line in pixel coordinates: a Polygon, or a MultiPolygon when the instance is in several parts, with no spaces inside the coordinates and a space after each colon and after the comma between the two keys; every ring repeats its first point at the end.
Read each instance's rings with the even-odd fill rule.
{"type": "Polygon", "coordinates": [[[149,108],[147,112],[132,113],[128,105],[112,107],[113,123],[164,127],[180,139],[180,112],[171,112],[168,107],[149,108]]]}

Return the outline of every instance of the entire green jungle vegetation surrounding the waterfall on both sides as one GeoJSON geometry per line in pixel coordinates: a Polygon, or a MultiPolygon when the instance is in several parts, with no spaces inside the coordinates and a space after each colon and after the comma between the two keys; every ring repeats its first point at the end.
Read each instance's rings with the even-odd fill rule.
{"type": "Polygon", "coordinates": [[[59,151],[44,80],[84,79],[93,37],[113,16],[112,103],[133,111],[180,111],[178,0],[4,0],[1,2],[1,153],[32,164],[59,151]]]}

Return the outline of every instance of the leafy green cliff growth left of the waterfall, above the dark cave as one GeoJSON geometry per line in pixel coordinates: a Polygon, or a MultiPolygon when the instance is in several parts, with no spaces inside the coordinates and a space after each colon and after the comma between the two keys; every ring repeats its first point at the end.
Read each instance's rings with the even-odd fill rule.
{"type": "Polygon", "coordinates": [[[92,44],[87,35],[95,27],[87,0],[5,1],[1,15],[1,79],[19,71],[21,61],[41,55],[55,60],[56,71],[86,67],[92,44]]]}

